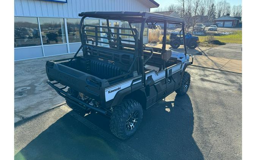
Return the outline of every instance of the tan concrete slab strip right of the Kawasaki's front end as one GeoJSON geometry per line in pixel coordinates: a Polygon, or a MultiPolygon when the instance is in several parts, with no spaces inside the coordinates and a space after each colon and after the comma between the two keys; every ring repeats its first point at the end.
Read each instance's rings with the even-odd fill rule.
{"type": "Polygon", "coordinates": [[[242,74],[242,60],[195,55],[193,66],[200,66],[242,74]]]}

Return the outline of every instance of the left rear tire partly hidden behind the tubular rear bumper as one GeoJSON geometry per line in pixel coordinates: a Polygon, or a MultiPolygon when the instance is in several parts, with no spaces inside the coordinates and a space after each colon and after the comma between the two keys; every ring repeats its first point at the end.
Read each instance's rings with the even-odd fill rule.
{"type": "MultiPolygon", "coordinates": [[[[67,93],[71,94],[71,96],[77,98],[78,97],[78,92],[75,91],[74,89],[68,88],[67,93]]],[[[76,113],[78,113],[81,116],[84,116],[85,113],[88,113],[88,111],[84,110],[83,108],[77,106],[76,104],[74,104],[73,102],[71,102],[70,100],[66,99],[66,103],[67,105],[72,108],[73,111],[75,111],[76,113]]]]}

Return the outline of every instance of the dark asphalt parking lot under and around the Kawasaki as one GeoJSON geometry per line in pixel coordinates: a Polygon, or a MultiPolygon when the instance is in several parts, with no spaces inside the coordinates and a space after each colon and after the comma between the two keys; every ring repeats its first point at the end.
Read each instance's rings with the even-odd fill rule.
{"type": "Polygon", "coordinates": [[[242,159],[242,75],[187,71],[188,93],[144,110],[129,140],[113,136],[105,116],[63,105],[15,124],[14,159],[242,159]]]}

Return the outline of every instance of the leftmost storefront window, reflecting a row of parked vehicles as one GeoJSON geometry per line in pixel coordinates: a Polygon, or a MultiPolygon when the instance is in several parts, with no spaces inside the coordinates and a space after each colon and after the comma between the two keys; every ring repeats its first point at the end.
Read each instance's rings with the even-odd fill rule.
{"type": "Polygon", "coordinates": [[[36,17],[14,17],[14,47],[41,45],[36,17]]]}

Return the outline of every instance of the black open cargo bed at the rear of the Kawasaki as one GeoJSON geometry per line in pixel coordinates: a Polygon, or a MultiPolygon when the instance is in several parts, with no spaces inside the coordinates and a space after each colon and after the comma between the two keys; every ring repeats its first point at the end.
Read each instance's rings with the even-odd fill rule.
{"type": "Polygon", "coordinates": [[[105,101],[105,88],[131,77],[120,67],[105,61],[82,56],[70,60],[47,61],[46,74],[49,80],[60,82],[98,101],[105,101]]]}

